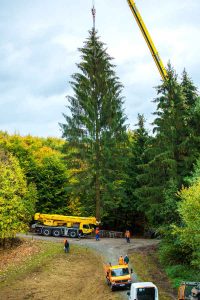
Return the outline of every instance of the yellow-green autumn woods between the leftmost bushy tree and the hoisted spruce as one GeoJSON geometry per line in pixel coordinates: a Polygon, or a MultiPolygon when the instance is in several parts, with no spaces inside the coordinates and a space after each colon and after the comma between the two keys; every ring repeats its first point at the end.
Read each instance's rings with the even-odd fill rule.
{"type": "Polygon", "coordinates": [[[61,151],[63,145],[62,139],[0,132],[0,148],[18,159],[32,196],[37,196],[36,211],[65,213],[67,210],[68,174],[61,151]]]}

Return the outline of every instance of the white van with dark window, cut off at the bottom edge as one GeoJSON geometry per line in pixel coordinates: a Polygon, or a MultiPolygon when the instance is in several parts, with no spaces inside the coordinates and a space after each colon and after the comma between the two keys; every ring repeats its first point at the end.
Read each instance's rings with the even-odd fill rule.
{"type": "Polygon", "coordinates": [[[152,282],[136,282],[127,295],[129,300],[158,300],[158,288],[152,282]]]}

